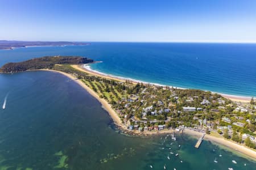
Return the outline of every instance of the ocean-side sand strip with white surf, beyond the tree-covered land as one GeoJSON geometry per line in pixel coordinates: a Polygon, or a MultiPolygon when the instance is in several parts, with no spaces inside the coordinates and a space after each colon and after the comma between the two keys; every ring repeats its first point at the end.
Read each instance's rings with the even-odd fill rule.
{"type": "MultiPolygon", "coordinates": [[[[92,64],[92,63],[90,63],[90,64],[92,64]]],[[[88,64],[88,65],[90,65],[90,64],[88,64]]],[[[101,73],[100,71],[92,70],[92,69],[90,69],[90,67],[82,67],[82,66],[79,66],[79,65],[72,65],[72,67],[74,67],[77,70],[84,71],[85,73],[88,73],[88,74],[102,76],[104,78],[117,80],[119,82],[125,82],[125,80],[129,79],[129,80],[133,80],[134,84],[137,84],[138,82],[139,83],[148,83],[148,82],[143,82],[143,81],[139,81],[139,80],[135,80],[135,79],[121,78],[119,76],[104,74],[104,73],[101,73]]],[[[150,84],[155,84],[156,86],[163,86],[163,85],[157,84],[157,83],[150,83],[150,84]]],[[[185,88],[181,88],[181,87],[174,87],[174,88],[185,89],[185,88]]],[[[228,95],[228,94],[221,94],[221,93],[218,93],[218,92],[213,92],[213,93],[217,93],[217,94],[219,94],[219,95],[221,95],[221,96],[223,96],[223,97],[225,97],[229,100],[232,100],[234,102],[249,103],[250,100],[251,100],[251,97],[247,97],[247,96],[228,95]]]]}

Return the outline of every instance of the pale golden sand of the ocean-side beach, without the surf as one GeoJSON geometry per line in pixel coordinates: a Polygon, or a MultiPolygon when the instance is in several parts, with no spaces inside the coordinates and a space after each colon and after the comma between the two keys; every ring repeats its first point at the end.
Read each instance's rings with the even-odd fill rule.
{"type": "MultiPolygon", "coordinates": [[[[93,71],[93,70],[86,69],[85,67],[82,67],[81,65],[72,65],[72,67],[74,67],[77,70],[84,71],[85,73],[88,73],[88,74],[102,76],[104,78],[113,79],[113,80],[117,80],[117,81],[121,81],[121,82],[125,81],[125,79],[122,79],[122,78],[117,78],[115,76],[105,75],[105,74],[101,74],[100,72],[96,72],[96,71],[93,71]]],[[[133,81],[134,84],[137,84],[138,82],[141,83],[141,81],[138,81],[138,80],[133,81]]],[[[179,87],[177,87],[177,88],[179,88],[179,87]]],[[[220,93],[218,93],[218,94],[220,94],[220,93]]],[[[230,99],[232,101],[241,102],[241,103],[249,103],[250,100],[251,100],[251,97],[245,97],[245,96],[226,95],[226,94],[220,94],[220,95],[227,98],[227,99],[230,99]]]]}

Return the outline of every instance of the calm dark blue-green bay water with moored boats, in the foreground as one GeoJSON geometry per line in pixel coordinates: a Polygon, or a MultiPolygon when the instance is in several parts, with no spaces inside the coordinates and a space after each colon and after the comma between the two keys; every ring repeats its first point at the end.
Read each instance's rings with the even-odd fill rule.
{"type": "Polygon", "coordinates": [[[163,169],[164,164],[167,169],[253,169],[256,165],[208,141],[197,150],[196,138],[188,135],[177,134],[176,142],[165,136],[123,135],[96,99],[61,74],[0,74],[0,82],[1,107],[9,93],[6,109],[0,109],[0,169],[151,169],[150,165],[163,169]],[[61,158],[67,158],[67,168],[61,166],[61,158]]]}

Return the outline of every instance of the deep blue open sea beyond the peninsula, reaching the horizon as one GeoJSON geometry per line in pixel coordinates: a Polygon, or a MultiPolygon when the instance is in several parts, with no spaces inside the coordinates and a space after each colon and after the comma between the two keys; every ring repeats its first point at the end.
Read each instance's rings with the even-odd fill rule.
{"type": "Polygon", "coordinates": [[[0,50],[0,65],[46,55],[102,61],[92,69],[168,86],[256,96],[256,44],[92,42],[0,50]]]}

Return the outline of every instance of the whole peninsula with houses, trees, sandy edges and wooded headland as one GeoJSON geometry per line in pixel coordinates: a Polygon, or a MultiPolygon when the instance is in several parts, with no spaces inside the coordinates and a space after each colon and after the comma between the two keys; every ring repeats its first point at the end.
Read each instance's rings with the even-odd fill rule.
{"type": "Polygon", "coordinates": [[[255,100],[239,103],[209,91],[156,86],[94,74],[81,64],[93,59],[53,56],[7,63],[0,72],[50,70],[64,74],[96,97],[125,133],[185,131],[256,159],[255,100]],[[249,149],[250,148],[250,149],[249,149]]]}

